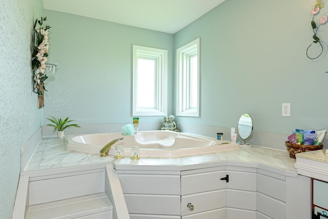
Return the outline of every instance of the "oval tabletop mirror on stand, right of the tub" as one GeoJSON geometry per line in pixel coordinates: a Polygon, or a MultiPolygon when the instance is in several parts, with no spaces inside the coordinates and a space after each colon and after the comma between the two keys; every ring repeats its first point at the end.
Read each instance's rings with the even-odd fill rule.
{"type": "Polygon", "coordinates": [[[237,132],[239,137],[244,141],[242,145],[251,146],[251,144],[246,144],[253,136],[253,121],[250,114],[244,113],[240,116],[237,132]]]}

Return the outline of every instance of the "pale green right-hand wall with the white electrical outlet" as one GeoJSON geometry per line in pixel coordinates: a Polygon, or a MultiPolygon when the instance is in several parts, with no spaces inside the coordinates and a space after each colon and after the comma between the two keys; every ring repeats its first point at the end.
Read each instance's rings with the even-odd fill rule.
{"type": "MultiPolygon", "coordinates": [[[[229,128],[248,112],[255,131],[328,129],[328,57],[306,57],[315,3],[226,0],[176,33],[175,48],[201,41],[201,116],[177,120],[229,128]],[[282,103],[291,103],[291,117],[281,116],[282,103]]],[[[328,5],[315,17],[317,24],[323,15],[328,5]]],[[[318,37],[328,42],[327,33],[324,24],[318,37]]]]}

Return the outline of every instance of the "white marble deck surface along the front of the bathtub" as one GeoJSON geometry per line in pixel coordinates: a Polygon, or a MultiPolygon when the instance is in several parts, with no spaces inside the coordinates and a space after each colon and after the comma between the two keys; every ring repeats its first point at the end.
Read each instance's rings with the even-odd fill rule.
{"type": "MultiPolygon", "coordinates": [[[[113,162],[116,165],[138,166],[171,166],[181,168],[213,162],[241,162],[248,166],[264,165],[278,168],[285,172],[296,173],[294,158],[289,156],[288,151],[271,149],[259,146],[239,147],[239,149],[220,151],[214,153],[197,154],[183,157],[142,157],[140,160],[131,160],[129,156],[116,160],[114,156],[100,157],[98,153],[87,153],[69,150],[66,148],[65,138],[43,138],[33,153],[28,165],[23,172],[40,171],[47,169],[75,167],[90,164],[102,164],[113,162]]],[[[297,174],[297,173],[296,173],[297,174]]]]}

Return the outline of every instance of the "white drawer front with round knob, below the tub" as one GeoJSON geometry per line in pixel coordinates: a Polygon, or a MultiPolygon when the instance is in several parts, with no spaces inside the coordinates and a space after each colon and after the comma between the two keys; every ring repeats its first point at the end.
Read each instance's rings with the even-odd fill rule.
{"type": "Polygon", "coordinates": [[[181,196],[182,216],[224,207],[226,207],[225,189],[181,196]],[[193,211],[188,209],[189,203],[194,206],[193,211]]]}

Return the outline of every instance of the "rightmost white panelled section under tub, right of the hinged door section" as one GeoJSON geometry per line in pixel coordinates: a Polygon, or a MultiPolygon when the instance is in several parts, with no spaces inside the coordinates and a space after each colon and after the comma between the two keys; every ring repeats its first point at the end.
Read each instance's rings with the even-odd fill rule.
{"type": "Polygon", "coordinates": [[[257,171],[257,219],[311,218],[311,180],[257,171]]]}

